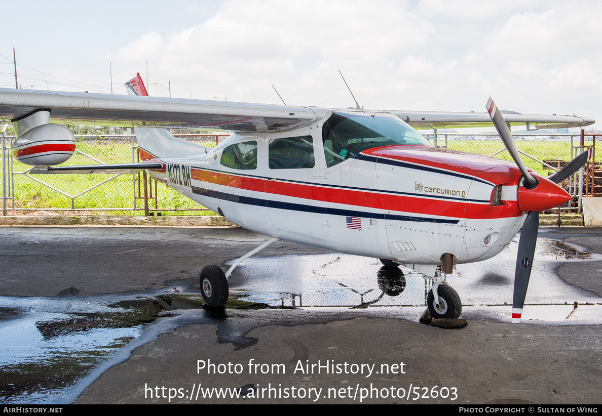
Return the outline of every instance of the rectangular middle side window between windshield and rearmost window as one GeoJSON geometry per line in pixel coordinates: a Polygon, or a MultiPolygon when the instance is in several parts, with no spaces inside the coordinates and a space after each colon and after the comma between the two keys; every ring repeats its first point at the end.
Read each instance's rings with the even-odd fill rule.
{"type": "Polygon", "coordinates": [[[311,136],[272,139],[269,144],[270,169],[303,169],[315,166],[311,136]]]}

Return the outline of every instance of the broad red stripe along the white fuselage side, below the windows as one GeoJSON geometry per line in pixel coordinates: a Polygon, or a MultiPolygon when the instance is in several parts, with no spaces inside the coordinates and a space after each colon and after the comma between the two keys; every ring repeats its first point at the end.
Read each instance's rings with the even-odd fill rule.
{"type": "Polygon", "coordinates": [[[246,191],[267,192],[305,200],[452,218],[507,218],[522,214],[516,201],[504,201],[504,204],[500,206],[467,204],[464,201],[444,201],[434,198],[416,198],[351,189],[326,188],[320,185],[279,182],[278,180],[244,177],[194,168],[191,169],[191,179],[246,191]]]}

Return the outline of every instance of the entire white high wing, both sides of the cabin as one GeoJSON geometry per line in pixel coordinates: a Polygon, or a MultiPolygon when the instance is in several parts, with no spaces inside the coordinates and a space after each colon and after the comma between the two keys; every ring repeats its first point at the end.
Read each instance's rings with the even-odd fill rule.
{"type": "MultiPolygon", "coordinates": [[[[54,120],[103,122],[114,126],[181,126],[232,132],[288,130],[308,125],[329,114],[329,109],[302,106],[0,88],[0,118],[4,120],[22,118],[42,108],[49,109],[54,120]]],[[[398,115],[418,129],[493,125],[486,112],[386,112],[398,115]]],[[[582,127],[595,122],[592,118],[575,115],[503,113],[509,124],[530,123],[538,129],[582,127]]]]}

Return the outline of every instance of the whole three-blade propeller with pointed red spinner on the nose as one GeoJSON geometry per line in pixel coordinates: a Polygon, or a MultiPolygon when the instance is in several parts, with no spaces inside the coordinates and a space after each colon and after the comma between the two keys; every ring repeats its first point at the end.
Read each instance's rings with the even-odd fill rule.
{"type": "Polygon", "coordinates": [[[506,120],[504,120],[501,112],[497,110],[497,106],[495,106],[491,97],[489,97],[489,101],[487,102],[487,111],[510,156],[512,156],[518,169],[523,174],[523,182],[518,186],[518,206],[523,212],[527,212],[527,218],[524,221],[523,230],[518,242],[517,265],[514,274],[514,295],[512,296],[512,322],[520,323],[527,296],[529,278],[531,277],[535,245],[537,243],[539,212],[559,206],[569,200],[570,195],[555,184],[568,178],[585,165],[585,162],[589,159],[590,151],[580,154],[562,168],[562,170],[547,179],[538,179],[529,173],[523,160],[520,158],[517,145],[510,133],[510,128],[506,124],[506,120]]]}

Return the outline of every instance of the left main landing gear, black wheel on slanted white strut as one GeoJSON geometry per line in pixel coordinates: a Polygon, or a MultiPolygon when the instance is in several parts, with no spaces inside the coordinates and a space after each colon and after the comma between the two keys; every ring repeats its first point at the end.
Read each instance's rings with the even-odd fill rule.
{"type": "Polygon", "coordinates": [[[228,269],[227,272],[223,272],[222,268],[217,265],[209,265],[205,266],[200,271],[199,284],[200,284],[200,294],[203,296],[203,300],[205,303],[211,307],[221,307],[228,302],[228,280],[230,279],[230,275],[232,271],[236,268],[236,266],[240,265],[245,258],[251,257],[256,252],[261,251],[266,248],[268,245],[275,243],[276,241],[280,241],[277,238],[273,238],[271,240],[267,240],[265,243],[260,245],[258,248],[249,251],[247,254],[243,255],[243,257],[239,258],[231,268],[228,269]]]}

